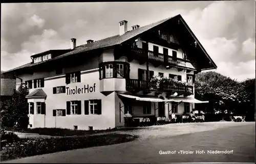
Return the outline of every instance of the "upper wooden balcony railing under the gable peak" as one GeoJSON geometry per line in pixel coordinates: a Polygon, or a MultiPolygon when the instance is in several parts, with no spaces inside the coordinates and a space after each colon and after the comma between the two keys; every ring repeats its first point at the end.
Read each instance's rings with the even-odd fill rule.
{"type": "Polygon", "coordinates": [[[134,57],[147,57],[149,60],[166,63],[167,65],[186,66],[186,62],[190,62],[180,58],[173,58],[167,54],[156,53],[150,50],[143,50],[142,48],[132,48],[131,51],[134,54],[134,57]]]}

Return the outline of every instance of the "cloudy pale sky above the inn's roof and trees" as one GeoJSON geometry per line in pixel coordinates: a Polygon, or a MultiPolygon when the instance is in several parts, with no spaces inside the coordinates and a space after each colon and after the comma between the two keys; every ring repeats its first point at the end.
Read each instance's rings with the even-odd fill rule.
{"type": "Polygon", "coordinates": [[[1,70],[31,62],[49,49],[68,49],[119,34],[121,20],[140,26],[181,14],[232,79],[255,78],[255,2],[98,2],[1,4],[1,70]]]}

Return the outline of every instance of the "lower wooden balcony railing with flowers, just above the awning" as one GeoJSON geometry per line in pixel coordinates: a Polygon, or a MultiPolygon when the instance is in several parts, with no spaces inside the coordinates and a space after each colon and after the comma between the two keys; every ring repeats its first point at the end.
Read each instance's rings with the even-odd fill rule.
{"type": "Polygon", "coordinates": [[[156,81],[146,81],[138,79],[126,79],[127,90],[152,90],[152,91],[163,91],[163,92],[177,92],[191,95],[193,94],[193,86],[181,86],[181,85],[170,85],[163,84],[157,87],[156,81]]]}

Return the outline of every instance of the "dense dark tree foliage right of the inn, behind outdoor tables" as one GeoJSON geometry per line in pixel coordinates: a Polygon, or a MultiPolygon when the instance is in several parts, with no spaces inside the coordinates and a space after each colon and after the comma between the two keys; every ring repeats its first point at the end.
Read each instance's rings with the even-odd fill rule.
{"type": "Polygon", "coordinates": [[[255,78],[240,82],[216,72],[201,72],[196,76],[195,97],[209,101],[198,105],[205,112],[254,117],[255,78]]]}

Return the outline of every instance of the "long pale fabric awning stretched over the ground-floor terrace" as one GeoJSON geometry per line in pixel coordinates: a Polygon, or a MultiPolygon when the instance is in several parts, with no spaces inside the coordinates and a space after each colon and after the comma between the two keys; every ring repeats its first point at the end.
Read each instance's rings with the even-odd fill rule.
{"type": "Polygon", "coordinates": [[[161,99],[157,96],[146,96],[146,95],[126,95],[118,94],[125,98],[134,99],[137,101],[151,101],[151,102],[189,102],[189,103],[208,103],[209,101],[200,101],[191,97],[168,97],[166,99],[161,99]]]}

